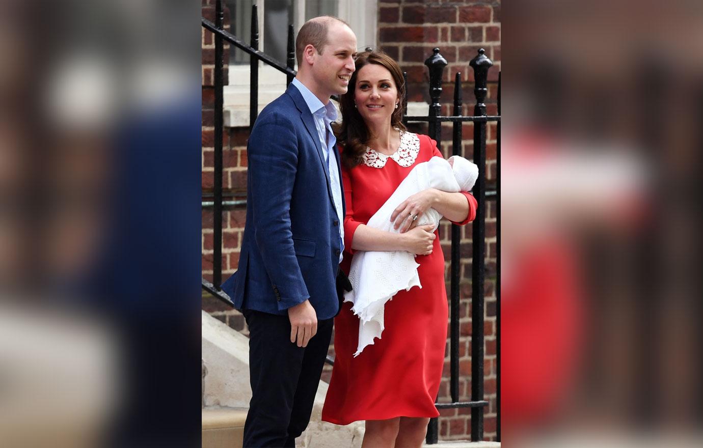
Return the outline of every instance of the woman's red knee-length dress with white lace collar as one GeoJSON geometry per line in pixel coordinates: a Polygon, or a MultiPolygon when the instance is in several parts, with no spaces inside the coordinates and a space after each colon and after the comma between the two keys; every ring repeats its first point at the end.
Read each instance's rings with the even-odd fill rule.
{"type": "MultiPolygon", "coordinates": [[[[344,218],[344,261],[349,272],[352,239],[393,194],[415,164],[441,157],[434,140],[404,133],[392,157],[367,152],[367,163],[342,169],[347,216],[344,218]],[[383,164],[385,159],[385,165],[383,164]],[[396,160],[397,159],[397,160],[396,160]],[[380,167],[382,165],[382,167],[380,167]],[[406,166],[401,166],[406,165],[406,166]]],[[[475,218],[477,202],[464,193],[475,218]]],[[[435,232],[437,235],[437,232],[435,232]]],[[[335,318],[335,366],[322,411],[323,421],[347,425],[359,420],[385,420],[399,416],[439,416],[434,400],[444,366],[449,310],[444,285],[444,255],[439,237],[427,256],[417,256],[422,289],[400,291],[385,305],[385,329],[380,339],[353,357],[359,341],[359,318],[345,302],[335,318]]]]}

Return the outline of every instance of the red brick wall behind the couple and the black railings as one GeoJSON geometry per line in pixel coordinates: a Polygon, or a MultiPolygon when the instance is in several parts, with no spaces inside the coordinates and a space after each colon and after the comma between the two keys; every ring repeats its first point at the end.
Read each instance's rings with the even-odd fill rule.
{"type": "MultiPolygon", "coordinates": [[[[429,103],[429,77],[425,59],[432,54],[432,48],[439,47],[440,53],[449,62],[444,70],[444,91],[441,95],[442,114],[451,114],[453,79],[456,72],[462,73],[463,114],[473,113],[475,96],[473,93],[473,70],[469,61],[479,48],[494,61],[489,71],[489,94],[486,98],[488,114],[497,114],[497,79],[500,70],[500,1],[386,1],[378,3],[379,47],[399,60],[403,70],[408,72],[408,100],[429,103]],[[451,79],[451,81],[450,81],[451,79]]],[[[214,21],[214,0],[202,0],[203,17],[214,21]]],[[[226,22],[228,14],[226,11],[226,22]]],[[[214,43],[212,34],[203,30],[202,34],[202,190],[212,192],[213,186],[213,104],[212,67],[214,43]],[[212,55],[210,54],[212,52],[212,55]]],[[[226,74],[225,74],[226,79],[226,74]]],[[[413,125],[411,130],[427,133],[427,125],[413,125]]],[[[489,186],[496,173],[496,125],[489,124],[486,144],[486,167],[489,186]]],[[[445,156],[451,154],[451,124],[445,124],[442,131],[441,149],[445,156]]],[[[463,154],[472,157],[473,125],[463,125],[463,154]]],[[[225,129],[223,187],[226,192],[244,194],[246,191],[246,143],[247,128],[225,129]]],[[[223,216],[223,278],[236,270],[239,248],[245,223],[243,209],[226,209],[223,216]]],[[[449,258],[450,225],[441,224],[441,243],[449,258]]],[[[470,400],[470,315],[471,296],[471,225],[465,226],[462,233],[461,287],[460,287],[460,400],[470,400]]],[[[449,261],[446,263],[449,282],[449,261]]],[[[212,280],[212,208],[202,209],[202,273],[212,280]]],[[[485,324],[486,337],[484,352],[484,389],[489,407],[484,414],[486,440],[496,436],[496,207],[494,202],[486,202],[486,279],[485,279],[485,324]]],[[[449,294],[449,283],[447,284],[449,294]]],[[[230,310],[217,299],[204,294],[202,309],[211,312],[234,329],[247,329],[243,317],[230,310]]],[[[447,350],[447,353],[449,350],[447,350]]],[[[330,354],[333,349],[330,347],[330,354]]],[[[446,357],[444,379],[439,390],[439,400],[449,401],[449,356],[446,357]]],[[[329,381],[330,369],[325,366],[323,379],[329,381]]],[[[470,410],[446,409],[439,419],[441,440],[467,439],[470,435],[470,410]]]]}

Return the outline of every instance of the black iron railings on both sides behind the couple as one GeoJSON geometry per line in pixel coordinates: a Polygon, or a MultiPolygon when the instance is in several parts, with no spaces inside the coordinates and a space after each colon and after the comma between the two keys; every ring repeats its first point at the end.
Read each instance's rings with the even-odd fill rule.
{"type": "MultiPolygon", "coordinates": [[[[245,206],[245,200],[228,200],[223,202],[222,192],[222,133],[223,133],[223,105],[222,105],[222,89],[223,89],[223,58],[222,46],[223,41],[236,46],[245,53],[248,53],[251,58],[250,62],[250,130],[254,126],[254,121],[257,118],[257,106],[259,98],[258,89],[258,74],[259,61],[266,65],[276,68],[280,72],[287,75],[287,84],[290,84],[295,77],[295,39],[293,38],[293,26],[288,27],[288,51],[286,65],[274,60],[269,55],[258,50],[259,42],[259,24],[257,18],[257,6],[252,6],[252,34],[250,45],[245,44],[233,34],[227,32],[223,27],[224,14],[222,11],[221,1],[216,2],[215,23],[202,18],[202,26],[214,34],[215,42],[215,67],[214,67],[214,88],[215,88],[215,110],[214,110],[214,191],[212,197],[204,197],[204,199],[212,199],[212,201],[203,201],[202,206],[212,206],[214,208],[213,220],[213,282],[207,282],[202,279],[202,288],[210,294],[220,298],[222,301],[233,305],[230,298],[221,291],[221,235],[222,235],[222,207],[226,206],[245,206]]],[[[367,48],[368,50],[369,48],[367,48]]],[[[443,122],[451,122],[452,129],[452,154],[462,154],[462,124],[463,122],[472,122],[474,124],[473,136],[473,161],[479,167],[479,177],[473,189],[473,195],[477,200],[478,209],[475,221],[472,225],[472,369],[471,369],[471,400],[461,402],[459,400],[459,279],[460,279],[460,228],[458,225],[451,226],[451,272],[450,272],[450,330],[449,330],[449,369],[450,369],[450,395],[451,402],[436,403],[437,409],[451,409],[460,407],[471,408],[471,440],[483,440],[484,434],[484,419],[483,410],[488,405],[484,400],[484,271],[485,271],[485,220],[486,220],[486,200],[496,201],[496,337],[498,347],[497,361],[497,384],[498,384],[498,440],[500,440],[500,123],[501,123],[501,81],[500,74],[498,75],[498,115],[486,115],[486,105],[484,100],[487,94],[487,79],[488,70],[493,65],[481,49],[478,55],[470,61],[470,66],[474,70],[475,89],[474,94],[476,103],[474,106],[474,114],[472,116],[464,116],[462,110],[462,95],[460,73],[456,74],[454,81],[454,98],[453,98],[453,115],[442,116],[439,97],[441,95],[441,79],[444,68],[447,65],[446,60],[439,53],[439,48],[434,48],[433,54],[425,61],[430,70],[430,114],[427,116],[404,116],[404,123],[408,122],[427,122],[428,133],[430,138],[437,141],[437,147],[441,147],[441,124],[443,122]],[[486,129],[488,123],[496,122],[498,135],[496,136],[497,149],[497,171],[496,171],[496,187],[491,190],[486,190],[486,129]]],[[[406,76],[406,74],[404,74],[406,76]]],[[[407,83],[406,83],[407,84],[407,83]]],[[[334,97],[333,97],[334,98],[334,97]]],[[[404,111],[407,113],[407,95],[404,98],[404,111]]],[[[231,195],[228,195],[231,197],[231,195]]],[[[328,364],[333,364],[334,360],[327,357],[328,364]]],[[[437,419],[431,419],[430,425],[427,428],[427,443],[434,444],[438,441],[438,423],[437,419]]]]}

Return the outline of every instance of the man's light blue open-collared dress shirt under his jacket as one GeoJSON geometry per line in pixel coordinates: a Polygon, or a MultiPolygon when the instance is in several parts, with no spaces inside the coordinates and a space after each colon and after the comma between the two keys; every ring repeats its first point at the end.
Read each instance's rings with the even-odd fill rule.
{"type": "Polygon", "coordinates": [[[344,252],[344,216],[342,216],[342,183],[340,182],[339,168],[337,167],[337,158],[330,154],[334,151],[335,145],[337,144],[337,138],[335,138],[335,133],[332,131],[332,122],[337,119],[337,110],[332,101],[328,102],[327,105],[323,105],[322,101],[317,98],[314,93],[312,93],[309,88],[304,86],[302,82],[298,81],[297,78],[293,78],[292,84],[297,87],[302,95],[305,103],[310,108],[310,112],[315,122],[315,127],[317,129],[318,138],[320,139],[320,144],[322,146],[322,152],[325,155],[325,162],[327,162],[328,170],[330,173],[330,183],[332,184],[332,197],[335,202],[335,211],[337,211],[337,218],[340,220],[340,263],[342,263],[344,252]]]}

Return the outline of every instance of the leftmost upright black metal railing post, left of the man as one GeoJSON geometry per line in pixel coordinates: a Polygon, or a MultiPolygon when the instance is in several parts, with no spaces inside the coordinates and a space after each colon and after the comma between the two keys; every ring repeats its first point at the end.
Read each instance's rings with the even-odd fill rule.
{"type": "MultiPolygon", "coordinates": [[[[224,22],[224,12],[222,11],[222,1],[217,0],[215,3],[215,26],[222,28],[224,22]]],[[[223,42],[219,34],[214,35],[215,38],[215,105],[214,105],[214,173],[213,173],[213,193],[214,193],[214,213],[212,219],[212,283],[217,291],[221,290],[222,284],[222,69],[223,61],[223,42]]]]}

